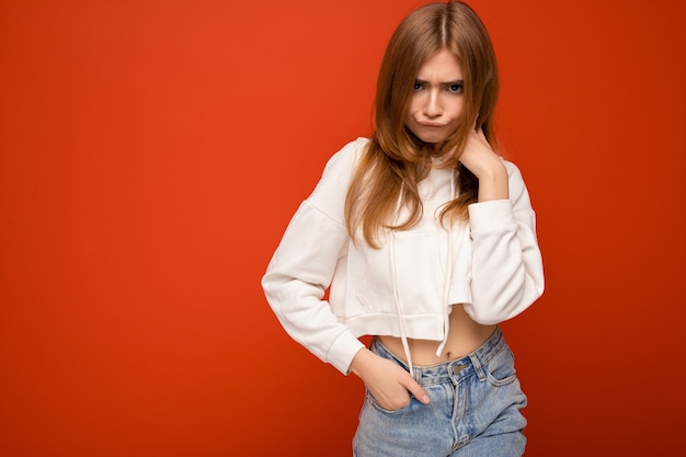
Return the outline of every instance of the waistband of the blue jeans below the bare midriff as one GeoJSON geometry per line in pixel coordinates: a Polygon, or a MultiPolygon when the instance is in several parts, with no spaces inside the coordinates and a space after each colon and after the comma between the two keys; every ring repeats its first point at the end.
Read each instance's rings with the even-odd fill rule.
{"type": "MultiPolygon", "coordinates": [[[[507,344],[503,338],[500,327],[489,339],[475,352],[454,361],[444,362],[436,365],[414,366],[412,367],[412,377],[421,385],[428,386],[433,384],[454,382],[456,377],[462,378],[471,374],[479,376],[479,379],[485,379],[483,366],[489,363],[498,353],[505,349],[507,344]]],[[[402,366],[407,372],[410,367],[402,359],[398,358],[386,347],[378,338],[371,341],[370,350],[384,358],[391,359],[402,366]]]]}

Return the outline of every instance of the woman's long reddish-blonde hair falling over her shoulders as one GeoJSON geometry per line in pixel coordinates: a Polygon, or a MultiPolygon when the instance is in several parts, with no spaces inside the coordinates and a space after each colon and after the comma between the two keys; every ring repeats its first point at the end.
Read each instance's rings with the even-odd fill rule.
{"type": "Polygon", "coordinates": [[[459,157],[476,125],[492,147],[493,111],[499,79],[495,54],[488,32],[471,8],[458,1],[419,8],[398,26],[381,61],[375,102],[376,130],[362,153],[345,201],[347,231],[354,240],[362,229],[364,240],[378,248],[381,228],[405,230],[422,218],[418,184],[431,170],[432,156],[444,167],[457,168],[458,196],[441,215],[442,221],[467,219],[467,206],[477,201],[479,183],[459,157]],[[425,59],[448,49],[464,76],[464,111],[460,126],[444,144],[428,145],[405,126],[405,115],[415,78],[425,59]],[[396,221],[399,194],[409,217],[396,221]]]}

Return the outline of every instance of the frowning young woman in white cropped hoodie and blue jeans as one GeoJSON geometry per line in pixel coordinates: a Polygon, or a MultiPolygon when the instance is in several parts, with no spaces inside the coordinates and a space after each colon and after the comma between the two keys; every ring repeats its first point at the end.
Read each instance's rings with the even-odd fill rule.
{"type": "Polygon", "coordinates": [[[376,132],[330,159],[263,277],[286,331],[364,381],[356,456],[524,453],[526,397],[498,323],[544,274],[522,175],[493,149],[498,90],[469,7],[411,13],[384,56],[376,132]]]}

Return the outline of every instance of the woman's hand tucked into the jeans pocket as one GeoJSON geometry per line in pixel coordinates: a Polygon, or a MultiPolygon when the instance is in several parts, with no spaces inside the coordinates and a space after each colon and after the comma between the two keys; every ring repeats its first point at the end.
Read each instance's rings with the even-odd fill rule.
{"type": "Polygon", "coordinates": [[[430,402],[426,391],[397,363],[362,349],[353,358],[351,372],[365,384],[379,407],[395,411],[410,403],[412,393],[422,403],[430,402]]]}

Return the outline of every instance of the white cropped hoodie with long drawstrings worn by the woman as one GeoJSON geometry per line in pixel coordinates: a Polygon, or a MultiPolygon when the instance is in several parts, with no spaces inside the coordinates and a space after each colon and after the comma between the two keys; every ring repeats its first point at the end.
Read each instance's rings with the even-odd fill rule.
{"type": "MultiPolygon", "coordinates": [[[[423,216],[416,226],[389,230],[380,249],[353,243],[345,197],[367,141],[358,138],[331,157],[262,278],[286,332],[344,374],[364,347],[362,335],[402,339],[411,363],[408,339],[436,341],[442,352],[453,305],[461,304],[476,322],[495,324],[544,292],[535,214],[508,161],[510,198],[469,205],[468,221],[442,226],[438,215],[455,197],[457,171],[434,168],[419,185],[423,216]]],[[[403,215],[397,208],[398,220],[403,215]]]]}

